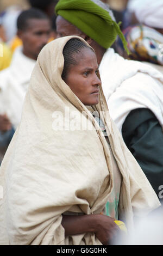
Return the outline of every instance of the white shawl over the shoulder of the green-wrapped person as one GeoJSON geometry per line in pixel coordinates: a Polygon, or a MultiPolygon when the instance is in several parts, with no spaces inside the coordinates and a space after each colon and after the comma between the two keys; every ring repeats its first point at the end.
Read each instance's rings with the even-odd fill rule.
{"type": "Polygon", "coordinates": [[[109,48],[99,66],[112,119],[121,131],[131,110],[149,108],[163,130],[163,75],[152,66],[127,60],[109,48]]]}

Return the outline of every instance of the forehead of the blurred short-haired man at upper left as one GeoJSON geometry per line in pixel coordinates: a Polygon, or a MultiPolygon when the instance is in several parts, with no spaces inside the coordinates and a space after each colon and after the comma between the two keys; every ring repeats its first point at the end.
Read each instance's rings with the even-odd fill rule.
{"type": "Polygon", "coordinates": [[[48,19],[29,19],[27,20],[26,31],[42,31],[49,30],[51,28],[51,23],[48,19]]]}

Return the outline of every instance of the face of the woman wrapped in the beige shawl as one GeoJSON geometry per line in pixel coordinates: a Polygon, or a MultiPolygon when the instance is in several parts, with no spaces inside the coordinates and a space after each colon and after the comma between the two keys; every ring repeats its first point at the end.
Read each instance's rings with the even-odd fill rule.
{"type": "Polygon", "coordinates": [[[101,80],[97,76],[96,54],[89,48],[83,48],[75,58],[77,65],[70,66],[65,83],[84,105],[96,105],[99,100],[99,86],[101,86],[101,80]]]}

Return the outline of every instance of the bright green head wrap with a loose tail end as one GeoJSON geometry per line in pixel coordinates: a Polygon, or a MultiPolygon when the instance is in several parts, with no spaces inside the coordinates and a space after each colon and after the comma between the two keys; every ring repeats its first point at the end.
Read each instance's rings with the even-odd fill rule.
{"type": "Polygon", "coordinates": [[[127,42],[119,24],[111,19],[108,11],[91,0],[60,0],[55,13],[90,36],[104,48],[109,48],[120,36],[125,50],[129,53],[127,42]]]}

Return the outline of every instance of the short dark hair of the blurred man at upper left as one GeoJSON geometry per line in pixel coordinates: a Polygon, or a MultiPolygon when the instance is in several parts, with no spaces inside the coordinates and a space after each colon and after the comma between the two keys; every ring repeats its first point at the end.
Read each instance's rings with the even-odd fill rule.
{"type": "Polygon", "coordinates": [[[24,10],[17,18],[17,29],[25,30],[28,27],[28,20],[30,19],[48,19],[48,16],[36,8],[24,10]]]}

